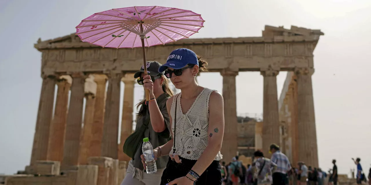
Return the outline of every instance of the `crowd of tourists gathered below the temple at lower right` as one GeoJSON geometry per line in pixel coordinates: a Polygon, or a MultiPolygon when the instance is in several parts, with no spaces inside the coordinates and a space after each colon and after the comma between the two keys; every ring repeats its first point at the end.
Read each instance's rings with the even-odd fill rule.
{"type": "MultiPolygon", "coordinates": [[[[263,152],[254,153],[254,161],[245,167],[242,161],[238,161],[238,156],[233,157],[232,162],[225,164],[221,162],[220,169],[223,176],[223,185],[337,185],[338,167],[336,160],[332,160],[334,165],[328,173],[321,168],[306,166],[305,162],[299,161],[296,167],[292,166],[285,154],[280,152],[279,146],[272,144],[270,146],[272,157],[265,158],[263,152]],[[327,184],[326,184],[327,181],[327,184]]],[[[357,184],[371,185],[371,168],[366,178],[361,159],[354,159],[357,165],[356,174],[352,177],[356,179],[357,184]]]]}

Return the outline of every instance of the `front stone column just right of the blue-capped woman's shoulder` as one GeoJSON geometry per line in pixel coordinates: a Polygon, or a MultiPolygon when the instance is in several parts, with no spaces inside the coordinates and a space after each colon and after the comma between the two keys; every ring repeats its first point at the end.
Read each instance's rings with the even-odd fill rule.
{"type": "Polygon", "coordinates": [[[224,137],[221,147],[223,160],[227,163],[237,155],[237,107],[236,107],[236,75],[237,71],[223,70],[224,99],[224,137]]]}

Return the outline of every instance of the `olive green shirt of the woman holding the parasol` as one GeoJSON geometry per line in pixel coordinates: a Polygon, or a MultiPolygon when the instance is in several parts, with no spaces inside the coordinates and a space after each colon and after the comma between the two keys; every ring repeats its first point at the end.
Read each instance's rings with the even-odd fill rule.
{"type": "MultiPolygon", "coordinates": [[[[168,128],[170,128],[170,118],[169,118],[169,115],[168,115],[168,112],[167,112],[167,109],[166,109],[166,101],[169,98],[170,98],[169,95],[167,95],[166,93],[163,93],[156,100],[158,108],[160,108],[161,114],[162,114],[162,116],[164,117],[164,120],[165,120],[165,125],[166,125],[165,130],[160,132],[160,133],[155,132],[152,128],[152,124],[151,124],[151,121],[150,121],[150,123],[148,124],[148,127],[144,131],[143,138],[148,137],[150,139],[150,142],[151,142],[153,148],[164,145],[170,140],[171,134],[170,134],[170,131],[168,129],[168,128]]],[[[148,110],[148,105],[142,105],[141,110],[143,108],[145,108],[146,110],[144,111],[143,116],[138,117],[137,126],[135,127],[135,130],[139,129],[144,124],[144,121],[146,120],[146,118],[150,116],[150,111],[148,110]]],[[[141,161],[141,158],[140,158],[140,156],[142,154],[143,154],[142,145],[140,145],[140,147],[138,147],[138,149],[137,149],[137,152],[135,152],[134,160],[133,160],[133,166],[135,168],[139,168],[141,170],[144,170],[143,164],[142,164],[142,161],[141,161]]],[[[158,169],[165,168],[166,164],[168,162],[168,159],[169,159],[169,157],[167,155],[158,158],[157,161],[156,161],[157,168],[158,169]]]]}

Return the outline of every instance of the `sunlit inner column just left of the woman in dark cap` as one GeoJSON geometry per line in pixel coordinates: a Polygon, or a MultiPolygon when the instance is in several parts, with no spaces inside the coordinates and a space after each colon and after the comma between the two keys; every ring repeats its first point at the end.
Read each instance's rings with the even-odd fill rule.
{"type": "Polygon", "coordinates": [[[130,161],[130,157],[122,151],[125,140],[132,133],[133,129],[133,109],[134,109],[134,84],[136,80],[134,74],[125,74],[122,78],[124,82],[124,103],[122,106],[122,121],[121,121],[121,135],[120,144],[118,147],[119,161],[130,161]]]}

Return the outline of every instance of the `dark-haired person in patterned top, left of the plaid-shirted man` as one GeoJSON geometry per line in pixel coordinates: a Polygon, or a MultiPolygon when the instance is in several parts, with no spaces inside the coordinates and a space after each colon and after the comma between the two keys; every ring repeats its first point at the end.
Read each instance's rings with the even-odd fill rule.
{"type": "Polygon", "coordinates": [[[256,175],[256,185],[271,185],[273,184],[273,173],[272,168],[275,169],[277,164],[268,158],[265,158],[263,152],[254,152],[255,157],[255,175],[256,175]]]}

